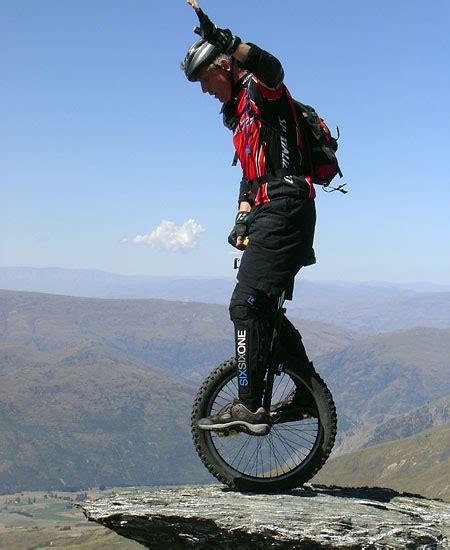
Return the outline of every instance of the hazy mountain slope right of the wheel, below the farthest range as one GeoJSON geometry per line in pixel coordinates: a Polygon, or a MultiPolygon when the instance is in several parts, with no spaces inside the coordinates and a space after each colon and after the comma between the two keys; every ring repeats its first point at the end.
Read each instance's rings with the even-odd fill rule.
{"type": "Polygon", "coordinates": [[[382,423],[450,390],[450,329],[361,335],[316,361],[342,412],[382,423]]]}

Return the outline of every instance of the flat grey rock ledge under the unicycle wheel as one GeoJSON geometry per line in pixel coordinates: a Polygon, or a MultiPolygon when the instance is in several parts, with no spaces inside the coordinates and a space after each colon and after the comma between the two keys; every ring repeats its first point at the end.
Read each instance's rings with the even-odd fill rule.
{"type": "Polygon", "coordinates": [[[447,548],[450,504],[390,489],[308,486],[236,493],[220,485],[158,488],[79,505],[151,549],[447,548]]]}

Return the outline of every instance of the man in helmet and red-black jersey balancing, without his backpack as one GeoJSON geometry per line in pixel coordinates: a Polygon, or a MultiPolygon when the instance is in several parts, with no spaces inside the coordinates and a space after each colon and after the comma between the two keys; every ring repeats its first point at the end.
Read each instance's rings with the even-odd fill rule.
{"type": "MultiPolygon", "coordinates": [[[[199,82],[203,93],[223,104],[224,124],[233,132],[243,171],[239,209],[228,237],[244,251],[230,303],[239,399],[200,419],[197,427],[243,427],[256,435],[269,425],[271,411],[262,407],[262,396],[279,297],[285,293],[292,299],[295,275],[315,263],[316,194],[278,59],[218,28],[194,0],[188,3],[197,13],[195,32],[202,38],[191,46],[182,68],[189,81],[199,82]]],[[[286,318],[281,334],[297,364],[309,365],[300,333],[286,318]]],[[[304,405],[301,400],[300,392],[293,391],[274,407],[294,410],[304,405]]]]}

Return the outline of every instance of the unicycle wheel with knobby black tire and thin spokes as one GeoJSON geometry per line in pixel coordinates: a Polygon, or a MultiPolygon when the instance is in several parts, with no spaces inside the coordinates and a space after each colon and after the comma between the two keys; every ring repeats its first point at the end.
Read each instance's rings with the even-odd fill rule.
{"type": "Polygon", "coordinates": [[[336,408],[325,382],[310,366],[286,365],[282,376],[276,377],[273,399],[287,397],[299,384],[313,397],[317,418],[274,424],[266,436],[239,433],[220,438],[216,432],[199,430],[198,419],[216,413],[226,400],[237,397],[236,378],[236,362],[231,358],[211,372],[194,400],[192,436],[203,464],[236,491],[270,493],[303,485],[325,464],[336,437],[336,408]],[[299,442],[304,445],[302,454],[297,449],[299,442]],[[234,458],[230,454],[233,448],[237,449],[234,458]]]}

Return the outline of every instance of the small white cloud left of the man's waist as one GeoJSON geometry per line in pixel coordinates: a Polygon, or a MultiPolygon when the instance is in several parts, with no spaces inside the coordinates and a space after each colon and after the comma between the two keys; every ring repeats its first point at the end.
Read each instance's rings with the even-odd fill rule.
{"type": "Polygon", "coordinates": [[[205,229],[192,218],[179,226],[173,221],[162,220],[148,235],[136,235],[132,239],[122,239],[120,242],[144,244],[158,250],[179,252],[195,248],[198,238],[204,232],[205,229]]]}

